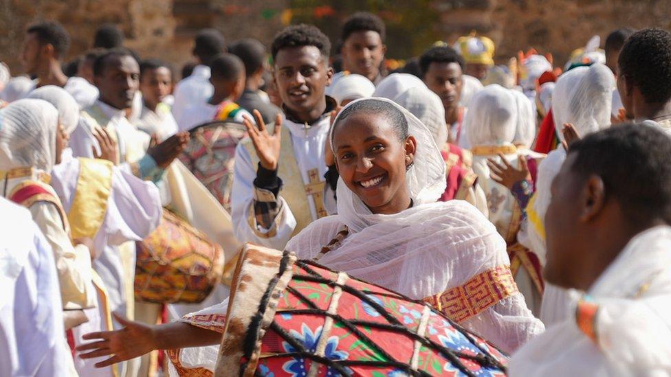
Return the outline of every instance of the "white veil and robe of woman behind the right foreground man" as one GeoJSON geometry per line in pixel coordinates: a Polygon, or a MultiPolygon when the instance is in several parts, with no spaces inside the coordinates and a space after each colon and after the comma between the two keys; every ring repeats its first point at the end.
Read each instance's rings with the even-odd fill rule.
{"type": "MultiPolygon", "coordinates": [[[[578,135],[585,137],[590,133],[610,127],[610,111],[613,101],[615,78],[605,65],[577,67],[560,76],[552,93],[552,116],[557,134],[564,140],[564,123],[575,126],[578,135]]],[[[550,187],[566,159],[566,151],[560,144],[538,165],[536,194],[531,210],[544,221],[545,212],[552,198],[550,187]]],[[[531,215],[533,216],[533,215],[531,215]]],[[[520,231],[520,243],[536,253],[540,262],[545,261],[545,242],[543,229],[527,222],[520,231]]]]}

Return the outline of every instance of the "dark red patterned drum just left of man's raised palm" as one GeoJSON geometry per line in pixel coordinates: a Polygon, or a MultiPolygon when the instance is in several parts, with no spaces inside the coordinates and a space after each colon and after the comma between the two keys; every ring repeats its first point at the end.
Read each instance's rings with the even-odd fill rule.
{"type": "Polygon", "coordinates": [[[190,135],[179,160],[230,213],[235,147],[247,135],[245,126],[234,122],[209,122],[190,130],[190,135]]]}

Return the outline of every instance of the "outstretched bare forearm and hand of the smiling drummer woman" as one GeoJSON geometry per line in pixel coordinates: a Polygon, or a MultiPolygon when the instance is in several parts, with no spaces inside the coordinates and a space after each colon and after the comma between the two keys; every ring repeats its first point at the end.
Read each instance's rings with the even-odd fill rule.
{"type": "Polygon", "coordinates": [[[124,325],[124,328],[85,334],[83,339],[93,342],[76,348],[78,352],[88,351],[80,354],[80,358],[111,356],[107,360],[96,363],[96,368],[109,367],[115,363],[148,354],[153,350],[203,347],[215,345],[221,341],[219,332],[197,328],[184,322],[145,325],[129,321],[115,313],[112,315],[124,325]]]}

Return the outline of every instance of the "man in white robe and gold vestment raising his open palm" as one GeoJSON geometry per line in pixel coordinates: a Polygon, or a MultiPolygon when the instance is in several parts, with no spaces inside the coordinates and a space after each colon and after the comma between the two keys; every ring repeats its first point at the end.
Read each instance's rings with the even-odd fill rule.
{"type": "Polygon", "coordinates": [[[333,70],[329,38],[312,25],[282,30],[272,44],[274,81],[284,116],[265,125],[254,111],[250,139],[236,148],[232,218],[236,237],[283,249],[310,222],[327,216],[324,146],[336,101],[325,95],[333,70]],[[280,195],[280,190],[283,190],[280,195]]]}

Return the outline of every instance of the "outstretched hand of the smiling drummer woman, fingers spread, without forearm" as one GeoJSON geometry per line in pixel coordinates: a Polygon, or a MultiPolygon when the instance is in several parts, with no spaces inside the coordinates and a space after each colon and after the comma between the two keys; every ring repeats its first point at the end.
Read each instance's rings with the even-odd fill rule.
{"type": "Polygon", "coordinates": [[[80,345],[77,351],[89,351],[80,354],[80,358],[96,358],[111,356],[107,360],[96,363],[96,368],[109,367],[115,363],[130,360],[142,356],[157,349],[153,328],[144,323],[129,321],[124,317],[112,313],[114,318],[124,325],[121,330],[91,332],[85,334],[83,339],[95,340],[91,343],[80,345]]]}

